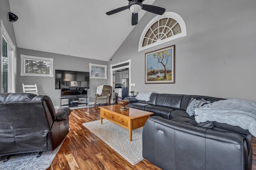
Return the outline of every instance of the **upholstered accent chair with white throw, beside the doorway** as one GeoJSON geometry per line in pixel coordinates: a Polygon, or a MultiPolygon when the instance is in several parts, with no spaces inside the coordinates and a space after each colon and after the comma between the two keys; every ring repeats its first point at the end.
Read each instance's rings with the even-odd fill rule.
{"type": "Polygon", "coordinates": [[[105,103],[108,103],[108,105],[110,105],[111,91],[112,91],[111,86],[104,85],[103,89],[102,89],[102,93],[101,94],[95,94],[94,106],[96,106],[96,104],[100,105],[100,104],[105,104],[105,103]]]}

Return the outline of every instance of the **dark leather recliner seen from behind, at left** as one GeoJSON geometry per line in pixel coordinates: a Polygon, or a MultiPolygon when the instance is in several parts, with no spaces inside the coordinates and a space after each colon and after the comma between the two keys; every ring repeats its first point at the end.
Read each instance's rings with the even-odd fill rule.
{"type": "Polygon", "coordinates": [[[48,96],[0,94],[0,156],[56,149],[68,135],[69,115],[48,96]]]}

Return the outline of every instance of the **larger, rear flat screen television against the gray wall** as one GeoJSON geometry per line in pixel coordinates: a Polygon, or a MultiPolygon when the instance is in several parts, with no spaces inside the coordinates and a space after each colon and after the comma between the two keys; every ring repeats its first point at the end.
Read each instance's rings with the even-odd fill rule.
{"type": "Polygon", "coordinates": [[[61,89],[61,81],[87,82],[85,86],[90,88],[90,73],[82,71],[55,70],[55,89],[61,89]]]}

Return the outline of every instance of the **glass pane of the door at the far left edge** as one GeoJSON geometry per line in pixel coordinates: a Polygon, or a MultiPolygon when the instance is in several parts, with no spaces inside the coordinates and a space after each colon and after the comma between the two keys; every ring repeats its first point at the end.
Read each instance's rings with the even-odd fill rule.
{"type": "Polygon", "coordinates": [[[3,86],[2,86],[2,92],[7,93],[8,92],[8,44],[3,38],[2,43],[2,77],[3,77],[3,86]]]}

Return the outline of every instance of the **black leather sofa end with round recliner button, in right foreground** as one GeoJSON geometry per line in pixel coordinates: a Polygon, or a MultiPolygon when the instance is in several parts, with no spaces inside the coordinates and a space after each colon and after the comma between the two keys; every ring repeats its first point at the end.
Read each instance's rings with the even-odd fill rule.
{"type": "Polygon", "coordinates": [[[248,170],[252,150],[245,138],[238,133],[153,116],[143,128],[142,156],[162,169],[248,170]],[[189,159],[184,162],[182,158],[189,159]]]}

